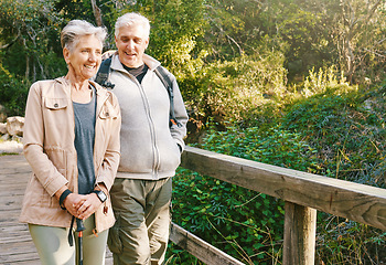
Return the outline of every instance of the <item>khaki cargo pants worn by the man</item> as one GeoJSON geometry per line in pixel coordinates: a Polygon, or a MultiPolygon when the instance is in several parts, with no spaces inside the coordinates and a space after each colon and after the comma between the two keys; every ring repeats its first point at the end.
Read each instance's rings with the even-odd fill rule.
{"type": "Polygon", "coordinates": [[[108,237],[114,264],[162,264],[170,232],[172,178],[117,178],[110,195],[117,220],[108,237]]]}

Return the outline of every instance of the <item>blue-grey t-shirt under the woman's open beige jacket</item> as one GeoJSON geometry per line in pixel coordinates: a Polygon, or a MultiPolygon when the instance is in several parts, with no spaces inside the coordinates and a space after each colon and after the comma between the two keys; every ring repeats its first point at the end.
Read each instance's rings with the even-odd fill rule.
{"type": "Polygon", "coordinates": [[[75,103],[75,149],[78,167],[78,192],[88,194],[94,190],[94,139],[96,116],[96,89],[93,87],[92,100],[86,104],[75,103]]]}

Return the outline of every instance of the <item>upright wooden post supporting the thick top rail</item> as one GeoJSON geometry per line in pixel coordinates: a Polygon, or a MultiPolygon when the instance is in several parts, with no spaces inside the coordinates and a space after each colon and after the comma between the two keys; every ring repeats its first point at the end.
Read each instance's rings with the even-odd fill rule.
{"type": "Polygon", "coordinates": [[[314,265],[317,210],[286,201],[283,265],[314,265]]]}

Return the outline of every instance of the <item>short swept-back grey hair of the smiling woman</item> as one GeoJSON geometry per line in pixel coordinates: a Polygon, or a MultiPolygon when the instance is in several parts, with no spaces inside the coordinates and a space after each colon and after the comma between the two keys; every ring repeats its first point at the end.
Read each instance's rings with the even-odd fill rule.
{"type": "Polygon", "coordinates": [[[72,20],[61,32],[62,49],[66,47],[73,51],[82,36],[95,35],[104,45],[107,30],[101,26],[95,26],[84,20],[72,20]]]}

